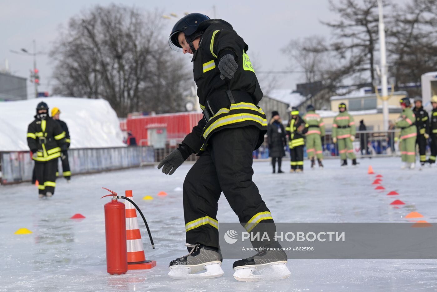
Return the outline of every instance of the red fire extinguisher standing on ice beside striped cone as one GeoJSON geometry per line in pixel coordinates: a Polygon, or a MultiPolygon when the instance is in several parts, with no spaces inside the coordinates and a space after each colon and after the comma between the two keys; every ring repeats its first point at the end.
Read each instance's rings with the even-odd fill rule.
{"type": "Polygon", "coordinates": [[[106,268],[109,274],[120,275],[128,271],[126,207],[117,200],[117,193],[109,191],[111,194],[103,196],[112,196],[111,202],[105,204],[106,268]]]}

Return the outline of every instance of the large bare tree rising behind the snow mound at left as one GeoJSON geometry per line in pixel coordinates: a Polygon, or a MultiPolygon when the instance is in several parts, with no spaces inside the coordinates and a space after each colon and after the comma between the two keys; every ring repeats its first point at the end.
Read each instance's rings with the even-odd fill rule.
{"type": "Polygon", "coordinates": [[[107,99],[118,116],[180,110],[187,71],[170,56],[159,15],[111,4],[71,18],[50,53],[54,93],[107,99]]]}

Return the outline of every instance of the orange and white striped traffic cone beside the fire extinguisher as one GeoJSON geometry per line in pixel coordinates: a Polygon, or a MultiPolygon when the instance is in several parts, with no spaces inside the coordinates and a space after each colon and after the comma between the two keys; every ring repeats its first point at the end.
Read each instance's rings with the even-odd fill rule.
{"type": "MultiPolygon", "coordinates": [[[[126,197],[132,197],[132,190],[125,192],[126,197]]],[[[135,207],[131,202],[125,201],[126,205],[126,241],[128,251],[128,270],[151,269],[156,266],[155,260],[146,260],[142,246],[141,232],[139,231],[138,219],[135,207]]]]}

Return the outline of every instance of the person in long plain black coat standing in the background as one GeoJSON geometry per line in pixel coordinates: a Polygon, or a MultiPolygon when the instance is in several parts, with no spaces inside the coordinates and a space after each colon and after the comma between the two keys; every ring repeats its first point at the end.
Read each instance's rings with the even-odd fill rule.
{"type": "Polygon", "coordinates": [[[272,112],[272,118],[267,127],[267,141],[269,144],[269,156],[272,158],[273,173],[282,173],[281,163],[282,157],[285,156],[284,146],[287,138],[285,137],[284,125],[282,125],[281,117],[277,111],[272,112]]]}

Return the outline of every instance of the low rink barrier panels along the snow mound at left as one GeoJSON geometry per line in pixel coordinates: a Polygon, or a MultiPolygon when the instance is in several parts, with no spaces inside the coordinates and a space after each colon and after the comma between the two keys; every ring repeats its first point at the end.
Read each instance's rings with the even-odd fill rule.
{"type": "MultiPolygon", "coordinates": [[[[153,147],[69,149],[72,174],[102,172],[137,167],[155,162],[153,147]]],[[[32,179],[34,162],[29,151],[0,152],[0,183],[19,183],[32,179]]],[[[62,166],[59,159],[59,172],[62,166]]]]}

